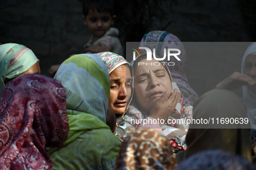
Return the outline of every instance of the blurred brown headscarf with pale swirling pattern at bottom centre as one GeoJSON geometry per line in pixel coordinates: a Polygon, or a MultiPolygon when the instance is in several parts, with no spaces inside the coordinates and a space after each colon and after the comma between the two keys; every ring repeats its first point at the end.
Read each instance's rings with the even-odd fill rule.
{"type": "Polygon", "coordinates": [[[154,129],[127,135],[117,157],[117,170],[172,170],[175,166],[172,145],[154,129]]]}

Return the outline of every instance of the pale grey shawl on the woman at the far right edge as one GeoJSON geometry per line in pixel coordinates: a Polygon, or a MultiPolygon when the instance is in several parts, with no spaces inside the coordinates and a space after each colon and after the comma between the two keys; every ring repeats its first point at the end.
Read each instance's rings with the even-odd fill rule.
{"type": "MultiPolygon", "coordinates": [[[[249,54],[256,54],[256,42],[250,44],[243,55],[241,73],[244,72],[245,60],[249,54]]],[[[246,85],[243,86],[243,100],[251,123],[251,128],[256,129],[256,94],[251,92],[246,85]]]]}

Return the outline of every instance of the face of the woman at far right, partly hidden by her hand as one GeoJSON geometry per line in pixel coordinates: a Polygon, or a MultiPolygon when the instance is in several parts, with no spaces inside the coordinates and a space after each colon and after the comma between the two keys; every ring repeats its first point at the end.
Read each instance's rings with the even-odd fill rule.
{"type": "MultiPolygon", "coordinates": [[[[245,60],[243,73],[256,80],[256,54],[249,54],[245,60]]],[[[256,86],[248,86],[249,90],[256,93],[256,86]]]]}

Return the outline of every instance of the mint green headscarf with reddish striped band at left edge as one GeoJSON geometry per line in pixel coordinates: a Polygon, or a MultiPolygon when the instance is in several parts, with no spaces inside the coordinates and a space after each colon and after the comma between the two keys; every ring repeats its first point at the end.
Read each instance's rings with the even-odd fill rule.
{"type": "Polygon", "coordinates": [[[38,59],[29,48],[19,44],[0,45],[0,94],[4,88],[4,79],[12,79],[26,72],[38,59]]]}

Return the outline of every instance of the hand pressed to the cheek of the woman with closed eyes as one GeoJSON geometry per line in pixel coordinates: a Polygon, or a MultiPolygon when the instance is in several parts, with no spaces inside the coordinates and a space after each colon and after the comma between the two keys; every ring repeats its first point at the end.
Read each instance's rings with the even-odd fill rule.
{"type": "Polygon", "coordinates": [[[178,103],[178,89],[175,89],[171,96],[169,91],[165,93],[155,102],[154,106],[150,110],[149,116],[154,119],[166,120],[175,109],[178,103]]]}

